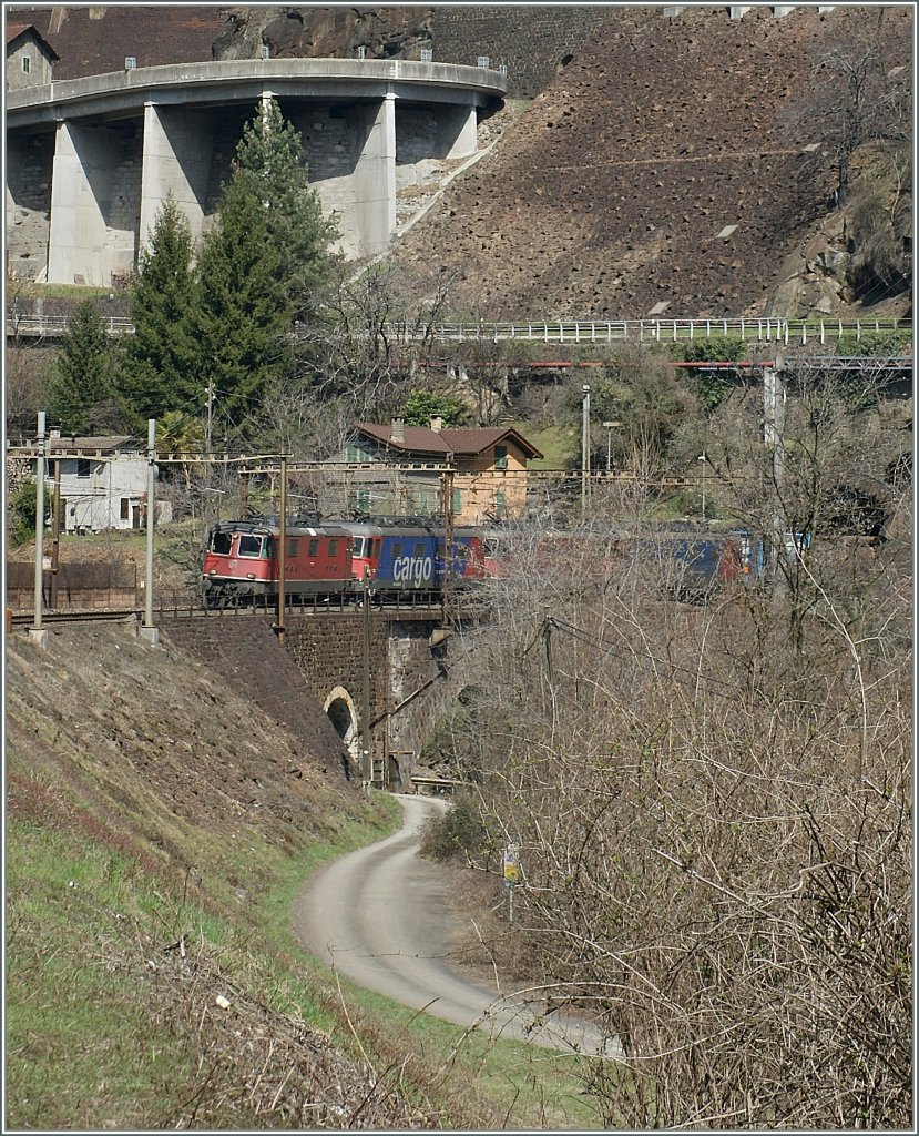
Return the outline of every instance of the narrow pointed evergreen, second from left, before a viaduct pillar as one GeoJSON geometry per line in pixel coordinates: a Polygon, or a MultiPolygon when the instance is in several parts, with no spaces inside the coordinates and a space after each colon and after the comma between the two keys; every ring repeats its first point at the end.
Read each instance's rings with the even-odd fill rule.
{"type": "Polygon", "coordinates": [[[125,341],[120,393],[138,420],[200,402],[193,371],[192,233],[171,195],[159,209],[130,294],[135,334],[125,341]]]}

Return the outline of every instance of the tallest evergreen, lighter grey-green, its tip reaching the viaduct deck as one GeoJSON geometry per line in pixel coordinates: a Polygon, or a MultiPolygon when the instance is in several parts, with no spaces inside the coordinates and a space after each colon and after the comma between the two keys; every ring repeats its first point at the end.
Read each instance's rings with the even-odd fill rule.
{"type": "Polygon", "coordinates": [[[309,319],[331,276],[336,258],[330,250],[338,228],[322,215],[307,181],[301,136],[276,99],[267,100],[243,128],[235,173],[265,210],[294,318],[309,319]]]}

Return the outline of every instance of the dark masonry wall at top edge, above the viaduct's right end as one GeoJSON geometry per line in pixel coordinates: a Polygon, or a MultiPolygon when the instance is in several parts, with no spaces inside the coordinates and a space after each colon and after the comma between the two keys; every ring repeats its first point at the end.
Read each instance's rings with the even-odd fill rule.
{"type": "Polygon", "coordinates": [[[488,56],[491,67],[506,65],[508,98],[533,99],[592,32],[617,16],[605,5],[435,8],[431,47],[438,62],[475,66],[488,56]]]}

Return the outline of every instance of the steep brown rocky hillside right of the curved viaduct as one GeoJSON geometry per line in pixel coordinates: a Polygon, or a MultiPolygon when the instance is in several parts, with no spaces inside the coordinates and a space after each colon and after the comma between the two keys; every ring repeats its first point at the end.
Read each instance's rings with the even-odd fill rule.
{"type": "MultiPolygon", "coordinates": [[[[610,15],[412,228],[402,258],[458,272],[454,299],[486,319],[787,317],[857,303],[851,219],[833,210],[826,124],[807,109],[815,61],[868,18],[610,15]]],[[[905,9],[891,17],[896,62],[909,60],[910,28],[905,9]]]]}

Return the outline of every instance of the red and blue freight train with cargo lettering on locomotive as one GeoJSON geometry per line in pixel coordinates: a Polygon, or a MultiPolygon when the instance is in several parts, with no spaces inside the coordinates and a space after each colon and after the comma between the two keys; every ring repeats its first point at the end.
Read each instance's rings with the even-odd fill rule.
{"type": "MultiPolygon", "coordinates": [[[[520,543],[501,529],[446,529],[431,517],[356,520],[290,519],[285,527],[285,595],[289,602],[357,598],[365,585],[378,601],[414,596],[435,601],[445,584],[472,586],[513,570],[520,543]]],[[[663,532],[640,538],[542,532],[530,544],[546,570],[573,570],[608,580],[638,543],[665,592],[694,600],[732,580],[756,578],[762,541],[750,533],[663,532]]],[[[211,608],[267,603],[278,595],[280,527],[277,517],[221,521],[209,535],[202,570],[211,608]]]]}

